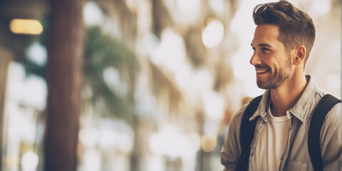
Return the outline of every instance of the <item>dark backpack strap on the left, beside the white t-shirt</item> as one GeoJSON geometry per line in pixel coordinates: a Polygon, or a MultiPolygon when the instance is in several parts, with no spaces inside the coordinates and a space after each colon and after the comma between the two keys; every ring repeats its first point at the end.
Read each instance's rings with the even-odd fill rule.
{"type": "Polygon", "coordinates": [[[251,152],[251,144],[254,138],[254,130],[255,125],[257,124],[257,120],[249,121],[249,118],[257,110],[259,103],[261,101],[262,95],[254,98],[246,110],[244,110],[244,115],[242,116],[242,123],[240,127],[240,145],[242,148],[241,155],[237,162],[237,167],[235,170],[247,170],[248,162],[249,162],[249,153],[251,152]]]}

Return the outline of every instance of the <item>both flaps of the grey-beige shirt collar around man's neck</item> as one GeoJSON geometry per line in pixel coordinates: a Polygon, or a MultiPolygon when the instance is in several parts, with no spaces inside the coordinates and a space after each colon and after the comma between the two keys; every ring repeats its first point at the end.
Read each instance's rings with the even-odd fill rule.
{"type": "MultiPolygon", "coordinates": [[[[309,107],[316,93],[316,84],[314,83],[314,81],[312,81],[311,76],[306,75],[306,81],[308,81],[308,85],[301,94],[301,97],[296,102],[296,104],[287,111],[288,115],[294,115],[294,117],[301,120],[302,123],[305,123],[306,118],[309,115],[309,107]]],[[[266,121],[266,107],[268,100],[270,99],[270,92],[271,90],[265,90],[265,93],[261,98],[256,112],[254,113],[254,115],[252,115],[251,118],[249,118],[249,120],[254,120],[255,118],[257,118],[257,116],[261,116],[261,118],[266,121]]]]}

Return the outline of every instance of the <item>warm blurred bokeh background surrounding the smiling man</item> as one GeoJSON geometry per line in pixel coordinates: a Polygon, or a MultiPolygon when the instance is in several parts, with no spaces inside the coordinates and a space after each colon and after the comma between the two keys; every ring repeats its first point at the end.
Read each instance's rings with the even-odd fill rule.
{"type": "MultiPolygon", "coordinates": [[[[257,88],[252,0],[1,0],[1,170],[222,170],[257,88]]],[[[341,1],[296,0],[341,98],[341,1]]]]}

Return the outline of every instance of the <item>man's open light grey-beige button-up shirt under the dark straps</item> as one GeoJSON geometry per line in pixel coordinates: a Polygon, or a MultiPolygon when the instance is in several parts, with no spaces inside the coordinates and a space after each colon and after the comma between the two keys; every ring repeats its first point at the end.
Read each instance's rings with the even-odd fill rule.
{"type": "MultiPolygon", "coordinates": [[[[290,128],[284,153],[281,157],[279,170],[314,170],[308,149],[308,133],[311,115],[314,113],[319,100],[326,93],[316,87],[311,76],[306,76],[309,82],[297,103],[286,112],[290,128]],[[294,116],[294,117],[291,117],[294,116]]],[[[266,116],[266,105],[269,100],[270,90],[266,90],[257,111],[249,120],[257,119],[254,139],[249,155],[249,170],[254,170],[252,159],[254,157],[257,138],[262,131],[266,116]]],[[[235,170],[241,153],[240,126],[242,115],[247,105],[237,111],[229,125],[227,137],[221,151],[221,163],[224,170],[235,170]]],[[[342,170],[342,105],[338,103],[326,115],[326,120],[321,129],[321,155],[323,158],[323,170],[342,170]]],[[[262,159],[260,159],[262,160],[262,159]]]]}

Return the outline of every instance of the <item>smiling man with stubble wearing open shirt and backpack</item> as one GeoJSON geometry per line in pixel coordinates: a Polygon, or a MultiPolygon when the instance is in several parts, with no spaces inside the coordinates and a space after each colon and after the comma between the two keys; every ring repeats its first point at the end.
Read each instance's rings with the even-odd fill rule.
{"type": "Polygon", "coordinates": [[[288,1],[259,4],[250,63],[265,93],[229,125],[224,170],[341,170],[341,100],[304,73],[314,23],[288,1]]]}

